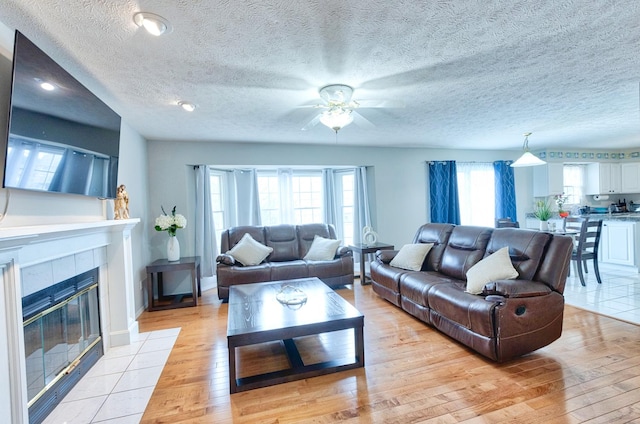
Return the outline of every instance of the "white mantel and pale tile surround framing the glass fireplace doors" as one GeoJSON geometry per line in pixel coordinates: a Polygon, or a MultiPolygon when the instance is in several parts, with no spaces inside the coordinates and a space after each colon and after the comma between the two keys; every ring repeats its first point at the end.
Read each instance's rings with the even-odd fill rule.
{"type": "MultiPolygon", "coordinates": [[[[23,291],[99,268],[100,326],[105,352],[138,333],[131,229],[139,219],[0,228],[0,411],[28,423],[22,332],[23,291]]],[[[6,415],[5,415],[6,414],[6,415]]]]}

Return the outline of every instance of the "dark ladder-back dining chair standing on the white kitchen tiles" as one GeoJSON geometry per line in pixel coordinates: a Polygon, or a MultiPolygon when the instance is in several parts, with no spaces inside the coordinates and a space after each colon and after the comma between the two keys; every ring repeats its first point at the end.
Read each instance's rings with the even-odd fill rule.
{"type": "MultiPolygon", "coordinates": [[[[567,218],[569,220],[569,218],[567,218]]],[[[579,232],[575,235],[575,243],[573,252],[571,253],[571,261],[576,265],[580,284],[586,286],[584,282],[584,274],[588,273],[587,261],[593,261],[593,271],[596,275],[598,284],[602,284],[600,279],[600,270],[598,268],[598,246],[600,245],[600,233],[602,232],[602,220],[590,221],[585,218],[572,218],[566,222],[565,230],[579,225],[579,232]],[[581,220],[582,222],[578,221],[581,220]]]]}

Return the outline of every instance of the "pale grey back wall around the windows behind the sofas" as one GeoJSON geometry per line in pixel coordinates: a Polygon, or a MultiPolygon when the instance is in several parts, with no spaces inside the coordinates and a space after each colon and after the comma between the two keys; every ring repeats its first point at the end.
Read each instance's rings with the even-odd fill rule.
{"type": "MultiPolygon", "coordinates": [[[[518,152],[461,151],[420,148],[346,147],[335,144],[291,145],[149,141],[149,180],[152,222],[165,209],[177,206],[194,220],[194,179],[190,165],[365,165],[373,167],[372,220],[380,240],[396,246],[409,243],[417,228],[429,220],[427,161],[494,161],[515,159],[518,152]]],[[[516,169],[518,218],[530,209],[531,171],[516,169]]],[[[522,218],[520,218],[522,217],[522,218]]],[[[153,231],[153,230],[150,230],[153,231]]],[[[153,231],[155,233],[155,231],[153,231]]],[[[178,237],[184,255],[193,255],[194,232],[188,226],[178,237]]],[[[164,257],[166,235],[150,237],[152,256],[164,257]]]]}

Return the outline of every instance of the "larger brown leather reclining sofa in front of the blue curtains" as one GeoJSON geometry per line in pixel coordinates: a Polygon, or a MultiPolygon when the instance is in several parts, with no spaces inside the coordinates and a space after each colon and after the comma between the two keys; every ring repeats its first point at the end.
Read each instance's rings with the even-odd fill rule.
{"type": "Polygon", "coordinates": [[[379,296],[498,362],[560,337],[570,237],[430,223],[420,227],[413,243],[434,243],[420,271],[392,267],[397,251],[376,253],[371,278],[379,296]],[[491,281],[480,295],[465,292],[466,272],[505,246],[517,279],[491,281]]]}

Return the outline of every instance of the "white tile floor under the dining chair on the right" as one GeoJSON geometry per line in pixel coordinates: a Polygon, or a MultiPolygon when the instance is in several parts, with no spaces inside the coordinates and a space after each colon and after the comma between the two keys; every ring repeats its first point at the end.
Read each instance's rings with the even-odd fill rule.
{"type": "Polygon", "coordinates": [[[602,315],[640,325],[640,274],[635,268],[600,265],[598,284],[591,263],[588,263],[585,284],[580,284],[575,269],[567,279],[564,290],[565,303],[602,315]]]}

